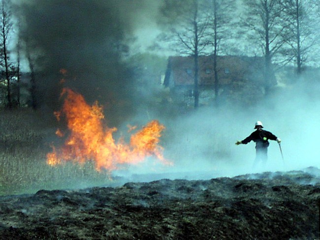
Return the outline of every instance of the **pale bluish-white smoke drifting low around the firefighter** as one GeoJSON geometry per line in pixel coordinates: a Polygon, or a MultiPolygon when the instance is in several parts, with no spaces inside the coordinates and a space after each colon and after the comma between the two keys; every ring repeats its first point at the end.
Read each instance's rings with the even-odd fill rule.
{"type": "Polygon", "coordinates": [[[148,162],[144,166],[133,166],[129,171],[137,175],[132,180],[211,179],[310,166],[320,168],[317,80],[305,76],[291,82],[294,84],[275,87],[273,94],[262,95],[258,104],[247,108],[236,103],[220,109],[202,106],[177,118],[172,112],[171,118],[150,112],[166,126],[161,144],[165,157],[172,160],[174,166],[161,167],[148,162]],[[237,140],[255,131],[256,120],[282,139],[284,158],[278,143],[269,140],[266,165],[254,167],[255,143],[235,145],[237,140]],[[146,174],[144,179],[141,174],[146,174]]]}

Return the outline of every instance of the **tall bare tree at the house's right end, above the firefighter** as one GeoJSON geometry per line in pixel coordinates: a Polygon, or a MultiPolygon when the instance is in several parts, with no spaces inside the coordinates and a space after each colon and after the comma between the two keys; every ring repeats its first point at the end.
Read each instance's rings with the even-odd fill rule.
{"type": "Polygon", "coordinates": [[[272,59],[279,56],[282,47],[287,42],[282,34],[287,28],[284,19],[284,8],[281,0],[245,0],[248,11],[242,18],[244,27],[249,30],[243,32],[248,39],[259,46],[264,56],[264,89],[266,94],[272,85],[272,59]]]}

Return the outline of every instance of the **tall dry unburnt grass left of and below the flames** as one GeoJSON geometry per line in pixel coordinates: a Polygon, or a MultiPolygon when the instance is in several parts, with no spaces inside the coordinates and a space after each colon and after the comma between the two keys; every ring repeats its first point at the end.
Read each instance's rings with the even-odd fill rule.
{"type": "Polygon", "coordinates": [[[97,172],[91,161],[55,167],[46,163],[56,130],[54,119],[43,120],[30,109],[0,110],[0,127],[0,195],[116,184],[105,172],[97,172]]]}

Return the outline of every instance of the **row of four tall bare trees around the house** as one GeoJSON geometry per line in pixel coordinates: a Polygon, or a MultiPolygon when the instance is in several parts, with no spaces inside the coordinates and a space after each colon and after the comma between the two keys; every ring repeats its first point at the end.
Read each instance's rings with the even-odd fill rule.
{"type": "Polygon", "coordinates": [[[315,0],[166,0],[161,7],[160,40],[178,55],[194,59],[194,107],[198,107],[200,55],[214,58],[218,102],[218,55],[264,58],[264,92],[277,67],[318,63],[320,2],[315,0]]]}

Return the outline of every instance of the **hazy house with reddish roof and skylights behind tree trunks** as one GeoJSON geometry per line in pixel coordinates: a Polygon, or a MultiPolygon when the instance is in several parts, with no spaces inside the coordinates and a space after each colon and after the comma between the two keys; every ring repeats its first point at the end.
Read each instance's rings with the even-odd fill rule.
{"type": "MultiPolygon", "coordinates": [[[[198,86],[199,101],[207,104],[215,98],[215,74],[213,56],[199,56],[198,86]]],[[[244,56],[218,56],[217,73],[218,88],[221,98],[232,98],[241,91],[248,95],[264,87],[264,58],[244,56]],[[249,92],[248,92],[249,91],[249,92]]],[[[273,84],[276,83],[273,78],[273,84]]],[[[192,104],[194,87],[194,58],[174,56],[169,57],[165,78],[165,87],[172,90],[175,97],[180,97],[188,105],[192,104]]]]}

